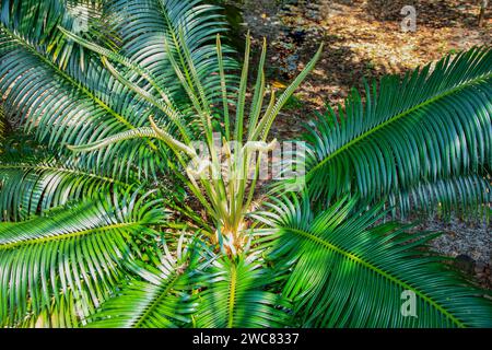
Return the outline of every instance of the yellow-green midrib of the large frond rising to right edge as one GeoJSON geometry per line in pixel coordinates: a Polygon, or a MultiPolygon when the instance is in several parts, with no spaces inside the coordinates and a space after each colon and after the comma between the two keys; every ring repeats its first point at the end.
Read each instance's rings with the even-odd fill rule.
{"type": "Polygon", "coordinates": [[[399,119],[410,115],[411,113],[413,113],[413,112],[415,112],[415,110],[418,110],[420,108],[423,108],[423,107],[425,107],[425,106],[427,106],[430,104],[433,104],[433,103],[435,103],[435,102],[437,102],[437,101],[440,101],[440,100],[442,100],[442,98],[444,98],[444,97],[446,97],[448,95],[457,93],[460,90],[464,90],[466,88],[475,85],[475,84],[477,84],[479,82],[482,82],[484,80],[488,80],[490,78],[492,78],[492,73],[480,75],[480,77],[478,77],[476,79],[471,79],[471,80],[467,81],[466,83],[464,83],[461,85],[455,86],[455,88],[453,88],[453,89],[450,89],[450,90],[448,90],[448,91],[446,91],[446,92],[444,92],[444,93],[442,93],[442,94],[440,94],[437,96],[434,96],[434,97],[432,97],[432,98],[430,98],[427,101],[424,101],[424,102],[422,102],[422,103],[411,107],[410,109],[407,109],[407,110],[405,110],[405,112],[402,112],[400,114],[397,114],[396,116],[389,118],[388,120],[385,120],[384,122],[379,124],[377,127],[375,127],[373,129],[370,129],[366,132],[363,132],[362,135],[360,135],[355,139],[353,139],[350,142],[347,142],[345,144],[343,144],[341,148],[336,150],[333,153],[329,154],[327,158],[325,158],[321,162],[316,164],[312,170],[309,170],[306,173],[306,178],[312,176],[319,167],[324,166],[326,163],[328,163],[330,160],[336,158],[338,154],[344,152],[345,150],[348,150],[349,148],[351,148],[355,143],[360,142],[361,140],[364,140],[365,138],[370,137],[374,132],[385,128],[388,125],[391,125],[393,122],[395,122],[395,121],[397,121],[397,120],[399,120],[399,119]]]}

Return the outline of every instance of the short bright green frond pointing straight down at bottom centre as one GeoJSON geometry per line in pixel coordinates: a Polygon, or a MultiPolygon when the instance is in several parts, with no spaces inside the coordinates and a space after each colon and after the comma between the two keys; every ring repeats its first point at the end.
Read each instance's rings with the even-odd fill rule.
{"type": "Polygon", "coordinates": [[[255,258],[218,260],[202,276],[196,325],[200,328],[263,328],[288,324],[286,301],[271,291],[271,271],[255,258]],[[279,306],[283,306],[279,308],[279,306]]]}

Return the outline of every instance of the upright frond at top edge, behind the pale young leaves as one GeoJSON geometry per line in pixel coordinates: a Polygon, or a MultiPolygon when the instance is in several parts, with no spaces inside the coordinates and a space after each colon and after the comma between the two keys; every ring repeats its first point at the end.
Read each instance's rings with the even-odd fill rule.
{"type": "MultiPolygon", "coordinates": [[[[116,0],[109,11],[116,14],[115,27],[121,33],[120,54],[148,70],[179,102],[181,110],[190,103],[183,83],[196,96],[203,93],[209,102],[220,97],[215,35],[225,31],[225,19],[218,13],[218,8],[201,0],[116,0]],[[176,75],[173,61],[184,72],[184,80],[176,75]]],[[[223,48],[224,54],[231,51],[223,48]]],[[[237,68],[229,55],[223,65],[226,70],[237,68]]],[[[225,78],[231,89],[233,75],[225,78]]]]}

